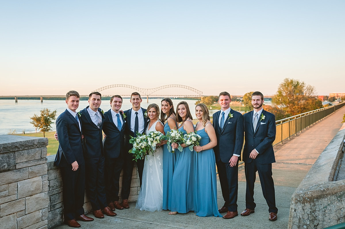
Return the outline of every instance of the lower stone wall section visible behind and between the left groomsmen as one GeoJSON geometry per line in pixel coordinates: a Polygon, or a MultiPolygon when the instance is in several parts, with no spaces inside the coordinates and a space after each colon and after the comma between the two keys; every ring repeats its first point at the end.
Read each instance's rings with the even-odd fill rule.
{"type": "MultiPolygon", "coordinates": [[[[63,223],[63,207],[62,207],[62,180],[59,167],[54,165],[55,155],[48,156],[48,195],[49,195],[49,207],[48,207],[48,228],[54,227],[63,223]]],[[[122,173],[120,176],[120,194],[122,184],[122,173]]],[[[140,190],[139,175],[137,173],[137,167],[133,168],[132,183],[130,189],[129,201],[137,201],[140,190]]],[[[121,200],[121,198],[120,198],[121,200]]],[[[84,201],[85,214],[90,212],[91,204],[85,194],[84,201]]]]}

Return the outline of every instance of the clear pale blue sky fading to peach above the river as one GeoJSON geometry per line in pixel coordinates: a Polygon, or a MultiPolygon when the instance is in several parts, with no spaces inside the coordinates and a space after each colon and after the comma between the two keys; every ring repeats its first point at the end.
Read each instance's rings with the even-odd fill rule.
{"type": "Polygon", "coordinates": [[[345,92],[342,0],[3,0],[0,31],[0,95],[110,84],[272,95],[286,77],[345,92]]]}

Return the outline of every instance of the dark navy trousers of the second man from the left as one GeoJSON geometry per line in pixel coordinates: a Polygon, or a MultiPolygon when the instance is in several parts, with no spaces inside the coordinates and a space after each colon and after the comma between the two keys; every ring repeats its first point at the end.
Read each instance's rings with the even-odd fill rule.
{"type": "Polygon", "coordinates": [[[85,158],[86,193],[94,211],[107,207],[104,166],[104,156],[85,158]]]}

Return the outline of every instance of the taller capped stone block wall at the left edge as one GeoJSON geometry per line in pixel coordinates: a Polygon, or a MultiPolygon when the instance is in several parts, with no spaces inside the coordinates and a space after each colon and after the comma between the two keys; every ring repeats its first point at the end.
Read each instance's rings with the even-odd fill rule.
{"type": "Polygon", "coordinates": [[[0,227],[47,228],[47,138],[0,135],[0,227]]]}

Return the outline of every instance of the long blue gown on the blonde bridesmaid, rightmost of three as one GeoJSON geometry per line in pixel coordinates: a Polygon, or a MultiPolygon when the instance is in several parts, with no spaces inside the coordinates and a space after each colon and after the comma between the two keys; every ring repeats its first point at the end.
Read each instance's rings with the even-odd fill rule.
{"type": "MultiPolygon", "coordinates": [[[[198,130],[197,134],[201,137],[200,146],[210,142],[205,128],[198,130]]],[[[206,149],[199,153],[195,152],[195,178],[196,215],[221,217],[217,204],[216,158],[213,149],[206,149]]]]}

